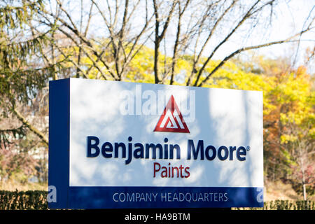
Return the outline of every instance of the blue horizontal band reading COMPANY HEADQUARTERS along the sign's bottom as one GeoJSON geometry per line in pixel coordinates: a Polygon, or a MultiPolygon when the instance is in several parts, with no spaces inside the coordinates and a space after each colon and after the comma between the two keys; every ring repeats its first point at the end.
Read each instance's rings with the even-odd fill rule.
{"type": "Polygon", "coordinates": [[[69,187],[69,209],[263,207],[263,188],[69,187]]]}

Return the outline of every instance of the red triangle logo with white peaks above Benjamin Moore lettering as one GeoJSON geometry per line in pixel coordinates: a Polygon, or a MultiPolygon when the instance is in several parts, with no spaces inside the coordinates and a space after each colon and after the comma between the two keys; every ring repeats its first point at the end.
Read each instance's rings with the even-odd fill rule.
{"type": "Polygon", "coordinates": [[[190,133],[173,95],[169,99],[154,132],[190,133]]]}

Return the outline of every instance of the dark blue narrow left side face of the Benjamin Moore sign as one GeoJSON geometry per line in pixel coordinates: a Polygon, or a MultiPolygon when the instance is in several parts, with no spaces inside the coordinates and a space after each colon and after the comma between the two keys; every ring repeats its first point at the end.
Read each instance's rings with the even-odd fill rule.
{"type": "Polygon", "coordinates": [[[50,209],[69,207],[70,78],[49,82],[48,186],[56,187],[50,209]]]}

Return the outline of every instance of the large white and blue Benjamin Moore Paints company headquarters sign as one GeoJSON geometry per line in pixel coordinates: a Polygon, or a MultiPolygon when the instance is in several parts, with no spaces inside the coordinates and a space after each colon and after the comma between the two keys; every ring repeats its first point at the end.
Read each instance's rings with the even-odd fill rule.
{"type": "Polygon", "coordinates": [[[52,209],[262,207],[262,92],[50,81],[52,209]]]}

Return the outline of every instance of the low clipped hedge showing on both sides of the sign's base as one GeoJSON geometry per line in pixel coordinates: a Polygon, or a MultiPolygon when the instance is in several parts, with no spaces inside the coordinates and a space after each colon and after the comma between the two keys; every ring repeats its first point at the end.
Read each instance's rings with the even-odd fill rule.
{"type": "MultiPolygon", "coordinates": [[[[0,190],[0,210],[47,210],[45,190],[0,190]]],[[[275,200],[265,202],[263,208],[232,208],[233,210],[315,210],[313,201],[275,200]]]]}

